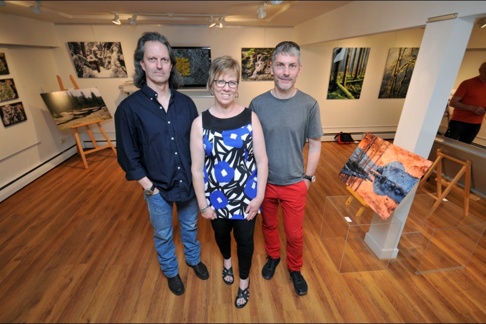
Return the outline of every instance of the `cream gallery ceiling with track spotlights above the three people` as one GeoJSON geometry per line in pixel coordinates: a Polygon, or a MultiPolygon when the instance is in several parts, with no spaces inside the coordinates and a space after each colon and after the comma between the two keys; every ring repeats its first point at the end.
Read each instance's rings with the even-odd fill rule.
{"type": "MultiPolygon", "coordinates": [[[[41,1],[41,14],[29,10],[35,1],[0,1],[2,14],[22,16],[54,24],[113,24],[118,14],[121,24],[209,25],[224,17],[227,26],[293,27],[333,11],[353,1],[41,1]],[[5,3],[5,6],[1,6],[5,3]],[[257,18],[257,9],[266,15],[257,18]]],[[[38,10],[37,10],[38,11],[38,10]]],[[[38,11],[39,12],[39,11],[38,11]]]]}

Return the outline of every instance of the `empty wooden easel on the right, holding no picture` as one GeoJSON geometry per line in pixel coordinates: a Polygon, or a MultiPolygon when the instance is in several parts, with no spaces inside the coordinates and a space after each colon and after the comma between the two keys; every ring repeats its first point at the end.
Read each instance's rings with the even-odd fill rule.
{"type": "Polygon", "coordinates": [[[422,189],[426,194],[434,198],[436,201],[434,205],[430,208],[430,210],[427,212],[425,215],[425,218],[428,219],[434,211],[439,207],[440,203],[442,203],[443,199],[447,196],[447,194],[452,190],[454,185],[459,181],[459,179],[465,175],[465,181],[464,181],[464,214],[463,216],[467,216],[469,214],[469,189],[471,186],[471,161],[466,160],[466,161],[461,161],[457,158],[454,158],[452,156],[446,155],[441,152],[440,148],[437,149],[437,158],[435,159],[434,163],[432,166],[430,166],[429,170],[425,173],[425,175],[422,177],[422,179],[419,182],[418,188],[420,189],[425,181],[430,177],[431,173],[434,171],[434,169],[437,169],[437,178],[435,179],[437,182],[437,195],[426,192],[425,190],[422,189]],[[446,158],[451,161],[454,161],[460,165],[462,165],[461,170],[457,173],[457,175],[454,177],[454,179],[448,184],[447,181],[442,179],[442,159],[446,158]],[[442,191],[442,185],[447,185],[446,190],[442,191]]]}

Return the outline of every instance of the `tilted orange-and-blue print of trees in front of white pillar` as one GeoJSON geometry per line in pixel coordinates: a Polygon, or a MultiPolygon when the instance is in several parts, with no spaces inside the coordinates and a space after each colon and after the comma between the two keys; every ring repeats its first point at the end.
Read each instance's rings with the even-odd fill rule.
{"type": "Polygon", "coordinates": [[[432,161],[367,133],[339,178],[386,220],[431,165],[432,161]]]}

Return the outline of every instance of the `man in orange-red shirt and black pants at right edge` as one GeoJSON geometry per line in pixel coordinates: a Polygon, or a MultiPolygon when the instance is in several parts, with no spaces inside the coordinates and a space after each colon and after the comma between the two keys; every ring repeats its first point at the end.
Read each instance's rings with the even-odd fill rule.
{"type": "Polygon", "coordinates": [[[471,144],[486,113],[486,62],[479,67],[478,76],[461,82],[449,105],[454,112],[446,137],[471,144]]]}

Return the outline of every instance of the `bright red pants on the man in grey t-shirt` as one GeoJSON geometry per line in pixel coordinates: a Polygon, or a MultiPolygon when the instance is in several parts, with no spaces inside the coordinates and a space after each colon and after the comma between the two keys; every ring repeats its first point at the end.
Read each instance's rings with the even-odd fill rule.
{"type": "Polygon", "coordinates": [[[300,271],[303,263],[303,222],[307,186],[304,181],[287,186],[267,183],[262,203],[262,231],[265,250],[272,259],[280,257],[278,235],[278,203],[282,207],[287,238],[287,265],[291,271],[300,271]]]}

